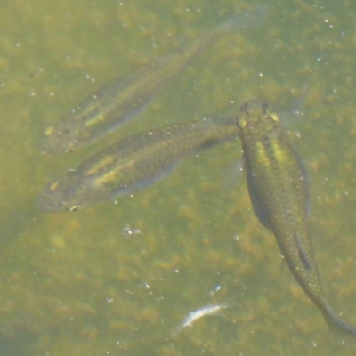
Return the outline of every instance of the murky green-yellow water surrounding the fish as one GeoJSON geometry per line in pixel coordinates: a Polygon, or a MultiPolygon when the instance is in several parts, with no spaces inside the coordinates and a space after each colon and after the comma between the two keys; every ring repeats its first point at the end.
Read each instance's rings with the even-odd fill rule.
{"type": "Polygon", "coordinates": [[[73,155],[38,148],[47,125],[113,77],[257,4],[2,2],[1,355],[354,354],[331,337],[257,222],[245,179],[222,188],[239,142],[184,159],[165,181],[117,204],[46,214],[36,203],[45,184],[109,141],[233,112],[252,96],[284,109],[310,84],[292,140],[312,182],[328,301],[356,324],[352,1],[270,2],[260,28],[200,53],[108,140],[73,155]],[[141,232],[130,236],[127,226],[141,232]],[[171,336],[189,312],[231,301],[226,318],[206,316],[171,336]]]}

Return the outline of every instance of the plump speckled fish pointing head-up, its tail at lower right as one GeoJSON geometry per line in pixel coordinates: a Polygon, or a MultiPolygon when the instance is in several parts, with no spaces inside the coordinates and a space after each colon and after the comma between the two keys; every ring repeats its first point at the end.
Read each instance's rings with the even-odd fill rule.
{"type": "Polygon", "coordinates": [[[266,102],[252,99],[240,107],[238,126],[256,217],[274,234],[290,271],[328,327],[343,341],[353,341],[356,327],[339,318],[325,298],[309,231],[308,175],[279,115],[266,102]]]}

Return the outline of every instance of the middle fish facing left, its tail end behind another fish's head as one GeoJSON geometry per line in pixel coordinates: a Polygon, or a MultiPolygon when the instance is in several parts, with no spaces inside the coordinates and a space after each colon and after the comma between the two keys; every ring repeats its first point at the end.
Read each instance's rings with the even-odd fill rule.
{"type": "Polygon", "coordinates": [[[131,135],[94,154],[41,193],[46,212],[76,211],[131,194],[170,174],[184,157],[237,138],[236,117],[190,121],[131,135]]]}

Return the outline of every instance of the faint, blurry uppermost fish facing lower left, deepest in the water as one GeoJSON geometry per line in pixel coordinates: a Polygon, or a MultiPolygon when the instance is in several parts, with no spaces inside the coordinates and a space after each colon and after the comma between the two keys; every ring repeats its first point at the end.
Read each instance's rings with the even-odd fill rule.
{"type": "Polygon", "coordinates": [[[71,152],[99,140],[137,117],[153,97],[209,44],[223,35],[260,25],[265,8],[235,13],[205,35],[182,44],[173,53],[103,85],[59,121],[47,127],[41,139],[49,154],[71,152]]]}

